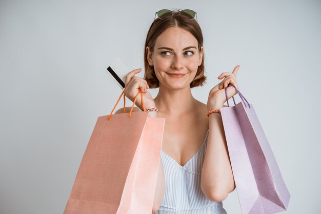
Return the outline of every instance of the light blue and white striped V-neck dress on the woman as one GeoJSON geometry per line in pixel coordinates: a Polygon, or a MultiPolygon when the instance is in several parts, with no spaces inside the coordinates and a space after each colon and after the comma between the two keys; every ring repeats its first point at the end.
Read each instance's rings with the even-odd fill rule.
{"type": "Polygon", "coordinates": [[[207,138],[208,131],[202,146],[184,166],[162,150],[165,195],[155,214],[226,214],[222,202],[208,200],[200,189],[207,138]]]}

